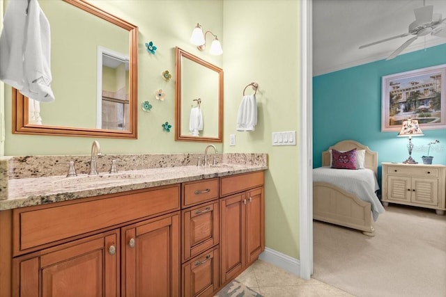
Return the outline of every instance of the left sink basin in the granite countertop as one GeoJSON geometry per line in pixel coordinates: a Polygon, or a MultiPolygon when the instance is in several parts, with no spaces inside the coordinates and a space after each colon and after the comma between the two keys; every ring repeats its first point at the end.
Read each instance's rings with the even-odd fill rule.
{"type": "Polygon", "coordinates": [[[78,175],[76,177],[65,177],[58,179],[53,184],[58,186],[74,186],[84,184],[112,184],[115,182],[124,182],[125,180],[141,179],[146,175],[138,173],[107,173],[100,175],[78,175]]]}

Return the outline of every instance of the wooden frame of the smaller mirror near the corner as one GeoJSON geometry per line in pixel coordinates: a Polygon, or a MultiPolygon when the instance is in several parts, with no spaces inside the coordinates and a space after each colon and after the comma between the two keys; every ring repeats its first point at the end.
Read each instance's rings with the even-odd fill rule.
{"type": "MultiPolygon", "coordinates": [[[[208,63],[206,61],[201,60],[201,58],[198,58],[197,56],[194,56],[192,54],[187,53],[187,51],[184,51],[183,49],[180,49],[178,47],[176,47],[175,50],[175,72],[176,72],[176,81],[175,81],[175,141],[197,141],[197,142],[213,142],[213,143],[222,143],[222,135],[223,135],[223,128],[222,128],[222,122],[223,122],[223,70],[220,67],[217,67],[211,63],[208,63]],[[198,96],[197,98],[190,98],[191,101],[190,102],[183,102],[183,88],[182,88],[182,83],[183,81],[181,80],[181,76],[182,76],[182,71],[183,71],[183,63],[182,63],[182,59],[183,58],[187,58],[188,60],[192,61],[193,63],[197,63],[197,65],[201,65],[203,67],[205,67],[207,70],[216,72],[217,76],[218,76],[218,81],[215,82],[215,85],[218,86],[218,90],[217,90],[217,98],[215,98],[217,100],[217,104],[215,104],[216,106],[218,106],[217,112],[216,112],[216,116],[217,116],[217,133],[215,134],[215,136],[208,136],[208,135],[204,135],[204,136],[192,136],[192,135],[187,135],[185,134],[185,131],[181,131],[181,127],[182,127],[182,117],[181,114],[183,106],[186,106],[186,104],[192,104],[192,101],[197,101],[197,100],[192,100],[192,99],[198,99],[201,98],[200,96],[198,96]]],[[[201,80],[201,78],[197,78],[198,80],[201,80]]],[[[204,79],[203,79],[204,80],[204,79]]],[[[197,84],[199,84],[200,81],[197,81],[197,84]]],[[[198,92],[200,93],[200,92],[198,92]]],[[[203,115],[203,122],[204,122],[204,126],[206,127],[206,115],[203,115]]],[[[210,117],[212,118],[212,117],[210,117]]],[[[184,120],[184,119],[183,119],[184,120]]],[[[187,119],[188,121],[188,119],[187,119]]]]}

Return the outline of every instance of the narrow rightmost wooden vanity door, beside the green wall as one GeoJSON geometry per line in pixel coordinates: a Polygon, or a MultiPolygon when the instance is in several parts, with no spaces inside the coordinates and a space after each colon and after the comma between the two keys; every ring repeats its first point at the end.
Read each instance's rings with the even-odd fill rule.
{"type": "Polygon", "coordinates": [[[263,187],[248,191],[246,197],[246,260],[247,264],[251,264],[265,249],[263,187]]]}

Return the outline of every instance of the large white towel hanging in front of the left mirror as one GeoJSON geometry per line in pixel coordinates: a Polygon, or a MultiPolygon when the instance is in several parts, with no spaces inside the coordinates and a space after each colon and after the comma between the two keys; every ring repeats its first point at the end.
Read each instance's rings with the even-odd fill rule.
{"type": "Polygon", "coordinates": [[[49,57],[49,22],[38,1],[8,1],[0,35],[0,79],[26,97],[51,102],[49,57]]]}

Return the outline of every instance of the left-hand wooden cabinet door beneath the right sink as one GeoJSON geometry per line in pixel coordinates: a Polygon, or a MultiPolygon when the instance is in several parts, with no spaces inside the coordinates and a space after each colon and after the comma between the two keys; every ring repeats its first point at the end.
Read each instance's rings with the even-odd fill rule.
{"type": "Polygon", "coordinates": [[[246,263],[245,193],[229,196],[220,200],[220,281],[237,275],[246,263]]]}

